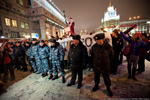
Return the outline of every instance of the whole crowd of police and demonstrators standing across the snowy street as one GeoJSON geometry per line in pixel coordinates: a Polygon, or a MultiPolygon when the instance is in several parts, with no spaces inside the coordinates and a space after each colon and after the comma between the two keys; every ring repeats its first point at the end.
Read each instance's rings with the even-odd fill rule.
{"type": "MultiPolygon", "coordinates": [[[[0,88],[3,87],[2,82],[7,83],[8,70],[13,81],[15,80],[14,68],[27,71],[27,65],[29,65],[31,66],[30,71],[41,74],[42,77],[48,76],[51,80],[58,79],[59,70],[62,83],[66,82],[64,68],[71,69],[71,81],[67,86],[74,85],[78,75],[77,88],[79,89],[82,87],[83,69],[88,65],[88,70],[94,71],[95,86],[92,91],[98,90],[100,74],[102,74],[107,92],[109,96],[112,96],[109,75],[110,73],[117,74],[118,65],[123,60],[123,49],[128,47],[127,44],[130,47],[130,53],[126,57],[129,74],[127,78],[137,80],[135,77],[136,71],[145,71],[145,56],[147,51],[150,50],[150,42],[146,33],[135,33],[130,37],[129,32],[133,28],[131,27],[125,32],[115,29],[111,34],[112,46],[105,41],[104,33],[96,34],[94,36],[96,43],[89,50],[80,41],[80,35],[73,35],[73,40],[68,41],[66,48],[63,48],[57,42],[58,37],[57,39],[49,39],[50,46],[44,40],[38,41],[36,38],[26,42],[3,43],[0,47],[0,70],[3,70],[1,73],[4,74],[3,78],[0,77],[0,80],[2,80],[0,88]]],[[[3,88],[1,90],[4,91],[3,88]]]]}

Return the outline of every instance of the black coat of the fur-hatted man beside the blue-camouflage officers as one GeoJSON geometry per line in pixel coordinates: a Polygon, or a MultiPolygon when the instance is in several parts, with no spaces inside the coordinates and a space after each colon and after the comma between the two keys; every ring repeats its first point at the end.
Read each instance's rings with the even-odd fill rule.
{"type": "Polygon", "coordinates": [[[68,66],[72,71],[79,71],[87,66],[88,54],[87,48],[80,41],[77,46],[72,44],[68,53],[68,66]]]}

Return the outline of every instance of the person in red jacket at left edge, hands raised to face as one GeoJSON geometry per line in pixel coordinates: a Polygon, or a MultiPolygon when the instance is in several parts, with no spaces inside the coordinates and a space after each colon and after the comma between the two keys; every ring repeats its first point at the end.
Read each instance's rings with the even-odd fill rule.
{"type": "Polygon", "coordinates": [[[7,83],[7,79],[8,79],[8,70],[10,72],[10,76],[11,76],[11,81],[15,80],[15,75],[14,75],[14,69],[11,65],[11,60],[10,57],[8,56],[9,53],[12,52],[12,49],[8,46],[7,42],[3,43],[1,46],[1,59],[0,59],[0,65],[3,68],[3,82],[7,83]]]}

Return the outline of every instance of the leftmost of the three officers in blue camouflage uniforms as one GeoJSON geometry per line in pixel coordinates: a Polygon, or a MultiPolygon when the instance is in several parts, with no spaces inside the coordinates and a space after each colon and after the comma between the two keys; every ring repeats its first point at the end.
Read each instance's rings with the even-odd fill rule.
{"type": "Polygon", "coordinates": [[[31,65],[32,65],[32,67],[34,69],[33,73],[36,73],[37,72],[37,68],[38,68],[38,72],[37,73],[39,74],[39,73],[42,73],[41,61],[40,61],[39,55],[38,55],[39,45],[38,45],[38,42],[37,42],[36,38],[32,38],[31,41],[32,41],[32,45],[28,49],[26,54],[31,59],[31,65]]]}

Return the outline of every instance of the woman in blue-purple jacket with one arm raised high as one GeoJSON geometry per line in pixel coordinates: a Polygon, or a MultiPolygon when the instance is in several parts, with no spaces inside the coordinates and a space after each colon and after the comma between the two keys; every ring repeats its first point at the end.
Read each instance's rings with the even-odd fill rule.
{"type": "Polygon", "coordinates": [[[120,32],[121,36],[127,42],[129,42],[129,44],[131,44],[129,60],[128,60],[128,74],[129,74],[128,79],[130,79],[130,77],[131,77],[131,65],[133,63],[132,79],[137,80],[135,78],[135,72],[136,72],[138,61],[139,61],[139,50],[141,47],[145,50],[148,50],[148,48],[141,38],[141,36],[142,36],[141,33],[135,33],[132,38],[129,38],[123,32],[121,32],[120,29],[118,29],[118,31],[120,32]]]}

